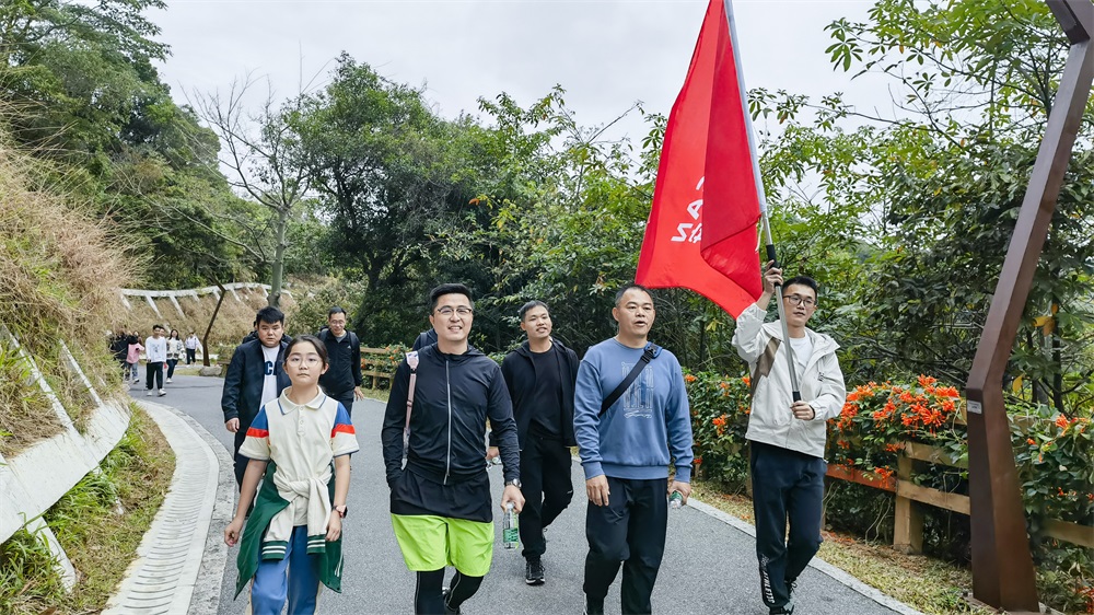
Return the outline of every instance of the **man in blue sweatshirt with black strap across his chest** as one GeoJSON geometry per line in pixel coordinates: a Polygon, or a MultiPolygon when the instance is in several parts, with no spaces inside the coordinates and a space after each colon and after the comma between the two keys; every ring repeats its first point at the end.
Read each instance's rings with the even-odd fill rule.
{"type": "Polygon", "coordinates": [[[639,285],[616,293],[619,333],[585,353],[574,387],[573,432],[585,469],[585,613],[604,613],[604,596],[624,565],[622,613],[650,613],[665,553],[668,495],[691,494],[691,415],[676,357],[649,344],[653,297],[639,285]],[[636,365],[637,378],[615,391],[636,365]],[[602,405],[616,397],[602,413],[602,405]],[[676,476],[668,483],[668,464],[676,476]]]}

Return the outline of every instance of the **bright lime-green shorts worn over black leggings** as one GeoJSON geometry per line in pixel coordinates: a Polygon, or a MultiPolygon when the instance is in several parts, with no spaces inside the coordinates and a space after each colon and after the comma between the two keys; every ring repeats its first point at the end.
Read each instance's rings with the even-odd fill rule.
{"type": "Polygon", "coordinates": [[[433,514],[393,514],[395,539],[407,569],[454,566],[461,575],[485,577],[493,559],[493,523],[433,514]]]}

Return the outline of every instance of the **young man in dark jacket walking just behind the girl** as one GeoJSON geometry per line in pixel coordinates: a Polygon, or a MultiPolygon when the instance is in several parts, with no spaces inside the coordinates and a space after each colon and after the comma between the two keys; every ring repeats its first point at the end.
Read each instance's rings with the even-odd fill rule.
{"type": "Polygon", "coordinates": [[[256,339],[235,347],[220,396],[224,428],[235,434],[237,485],[243,485],[243,473],[251,461],[240,455],[251,422],[263,404],[276,399],[290,384],[284,373],[284,347],[289,345],[284,339],[284,314],[274,306],[263,308],[255,315],[255,332],[256,339]]]}

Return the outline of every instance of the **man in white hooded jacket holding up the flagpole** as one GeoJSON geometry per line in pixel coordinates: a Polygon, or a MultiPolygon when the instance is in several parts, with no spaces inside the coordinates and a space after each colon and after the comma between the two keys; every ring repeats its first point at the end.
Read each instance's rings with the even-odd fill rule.
{"type": "Polygon", "coordinates": [[[799,276],[783,283],[782,270],[769,262],[764,292],[737,316],[733,334],[733,346],[748,362],[752,378],[753,403],[745,437],[752,451],[760,596],[770,615],[794,612],[798,576],[821,548],[826,422],[839,416],[847,396],[836,359],[839,345],[805,326],[816,308],[817,283],[812,278],[799,276]],[[779,322],[764,323],[780,286],[789,340],[782,338],[779,322]],[[788,351],[801,394],[796,402],[788,351]]]}

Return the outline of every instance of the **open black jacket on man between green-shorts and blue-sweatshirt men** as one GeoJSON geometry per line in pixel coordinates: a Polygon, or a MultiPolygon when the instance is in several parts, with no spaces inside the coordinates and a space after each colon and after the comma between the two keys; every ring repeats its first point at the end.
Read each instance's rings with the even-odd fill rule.
{"type": "MultiPolygon", "coordinates": [[[[562,443],[577,446],[573,439],[573,385],[578,382],[578,355],[551,338],[551,351],[558,360],[558,380],[562,383],[562,443]]],[[[513,399],[513,417],[516,419],[516,436],[524,449],[524,441],[532,425],[532,413],[526,410],[527,397],[536,390],[536,367],[532,361],[532,349],[525,341],[520,348],[505,355],[501,362],[501,373],[505,376],[509,396],[513,399]]],[[[496,446],[493,433],[490,433],[490,445],[496,446]]]]}

